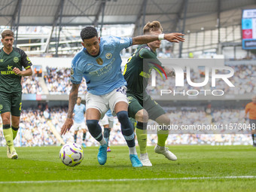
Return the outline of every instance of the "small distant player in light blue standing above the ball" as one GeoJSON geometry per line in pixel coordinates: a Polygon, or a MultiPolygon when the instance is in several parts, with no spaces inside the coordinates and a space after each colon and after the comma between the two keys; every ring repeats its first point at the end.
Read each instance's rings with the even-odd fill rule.
{"type": "Polygon", "coordinates": [[[73,113],[73,119],[74,119],[74,124],[73,124],[73,129],[75,131],[74,133],[74,142],[77,142],[77,138],[78,138],[78,130],[79,128],[81,128],[81,130],[83,131],[83,147],[86,148],[85,145],[85,139],[87,136],[87,126],[85,124],[85,120],[84,120],[84,114],[86,112],[86,108],[85,105],[83,103],[81,103],[82,99],[81,96],[78,96],[78,100],[77,103],[75,104],[75,108],[74,108],[74,113],[73,113]]]}

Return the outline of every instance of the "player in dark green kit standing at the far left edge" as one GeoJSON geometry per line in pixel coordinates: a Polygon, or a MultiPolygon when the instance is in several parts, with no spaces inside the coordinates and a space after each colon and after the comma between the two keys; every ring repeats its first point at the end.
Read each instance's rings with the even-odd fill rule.
{"type": "Polygon", "coordinates": [[[7,156],[10,159],[17,159],[14,139],[19,130],[22,106],[20,81],[22,76],[32,75],[32,62],[23,50],[13,47],[14,32],[11,30],[2,32],[2,44],[4,47],[0,50],[0,113],[7,156]]]}

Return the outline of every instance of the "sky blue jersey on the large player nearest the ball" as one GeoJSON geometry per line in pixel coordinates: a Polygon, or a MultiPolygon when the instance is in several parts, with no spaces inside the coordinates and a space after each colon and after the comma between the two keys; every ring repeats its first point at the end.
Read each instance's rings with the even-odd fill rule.
{"type": "Polygon", "coordinates": [[[120,50],[132,44],[133,38],[103,37],[100,38],[99,56],[90,56],[83,48],[72,59],[72,83],[81,84],[84,77],[87,91],[98,96],[126,85],[120,69],[120,50]]]}

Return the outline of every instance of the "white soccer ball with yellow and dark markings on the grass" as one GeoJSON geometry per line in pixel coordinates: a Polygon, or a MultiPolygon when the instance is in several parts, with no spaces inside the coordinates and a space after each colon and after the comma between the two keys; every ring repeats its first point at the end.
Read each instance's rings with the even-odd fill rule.
{"type": "Polygon", "coordinates": [[[59,151],[59,158],[66,166],[78,166],[84,159],[83,149],[76,143],[66,143],[59,151]]]}

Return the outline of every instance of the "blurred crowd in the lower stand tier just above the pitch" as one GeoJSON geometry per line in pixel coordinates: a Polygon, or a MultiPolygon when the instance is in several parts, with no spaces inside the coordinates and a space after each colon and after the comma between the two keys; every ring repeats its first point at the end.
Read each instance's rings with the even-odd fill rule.
{"type": "MultiPolygon", "coordinates": [[[[205,111],[171,111],[168,110],[171,123],[181,125],[195,124],[218,124],[218,123],[245,123],[243,109],[216,109],[212,114],[206,114],[205,111]],[[236,122],[234,122],[234,120],[236,122]]],[[[16,146],[44,146],[44,145],[60,145],[58,139],[53,134],[54,130],[60,133],[62,124],[66,120],[68,108],[45,108],[44,111],[27,109],[23,110],[20,117],[20,131],[15,139],[16,146]],[[54,129],[54,130],[53,130],[54,129]]],[[[2,120],[0,120],[0,124],[2,120]]],[[[150,121],[148,124],[152,124],[150,121]]],[[[248,123],[248,122],[247,122],[248,123]]],[[[102,129],[103,130],[103,129],[102,129]]],[[[230,134],[209,134],[209,131],[199,132],[204,134],[189,134],[188,130],[183,133],[176,133],[170,130],[167,139],[167,145],[251,145],[251,137],[249,130],[232,130],[230,134]]],[[[71,129],[65,136],[62,136],[64,142],[74,141],[74,130],[71,129]]],[[[81,131],[78,132],[78,144],[82,142],[81,131]]],[[[5,145],[2,131],[0,132],[0,145],[5,145]]],[[[126,145],[125,140],[120,132],[120,123],[114,117],[114,127],[110,134],[110,145],[126,145]]],[[[148,134],[148,145],[157,144],[157,135],[148,134]]],[[[86,145],[99,145],[90,133],[87,132],[86,145]]]]}

